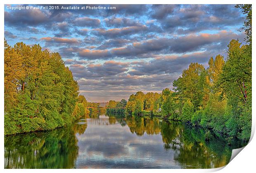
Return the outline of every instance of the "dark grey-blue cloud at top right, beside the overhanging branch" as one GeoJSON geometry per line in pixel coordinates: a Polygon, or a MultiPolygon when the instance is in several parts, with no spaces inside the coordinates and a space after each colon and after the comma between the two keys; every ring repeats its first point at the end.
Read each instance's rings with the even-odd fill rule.
{"type": "Polygon", "coordinates": [[[182,5],[175,9],[173,15],[166,15],[158,22],[170,33],[188,34],[237,26],[242,22],[240,14],[234,5],[182,5]]]}

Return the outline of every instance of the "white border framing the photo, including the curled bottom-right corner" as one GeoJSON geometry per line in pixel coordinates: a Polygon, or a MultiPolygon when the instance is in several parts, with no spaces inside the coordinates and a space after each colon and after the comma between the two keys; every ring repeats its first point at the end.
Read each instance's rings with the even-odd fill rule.
{"type": "MultiPolygon", "coordinates": [[[[4,4],[253,4],[253,14],[254,14],[254,1],[253,0],[193,0],[193,1],[189,1],[189,0],[172,0],[172,1],[168,1],[168,0],[93,0],[93,1],[82,1],[82,0],[72,0],[72,1],[68,1],[68,0],[2,0],[2,7],[1,9],[4,8],[4,4]]],[[[1,44],[1,63],[0,63],[0,102],[1,102],[1,107],[0,107],[0,111],[2,117],[1,117],[1,124],[2,124],[2,128],[0,131],[0,134],[2,136],[2,141],[0,143],[1,145],[1,168],[3,169],[3,171],[5,172],[45,172],[45,169],[38,169],[38,170],[33,170],[33,169],[17,169],[17,170],[8,170],[8,169],[4,169],[4,46],[3,46],[3,40],[4,40],[4,10],[1,10],[1,23],[2,23],[2,27],[1,27],[1,36],[2,36],[2,44],[1,44]]],[[[254,32],[254,28],[255,28],[255,21],[253,18],[253,38],[255,38],[255,32],[254,32]]],[[[253,44],[253,57],[256,58],[255,55],[255,43],[253,44]]],[[[254,62],[254,58],[253,58],[253,62],[254,62]]],[[[253,72],[253,91],[255,88],[255,65],[253,63],[252,65],[252,72],[253,72]]],[[[255,92],[253,92],[253,98],[255,98],[255,92]]],[[[255,102],[253,100],[253,126],[252,126],[252,133],[254,133],[255,131],[255,124],[256,124],[256,118],[255,118],[255,102]]],[[[250,143],[244,147],[244,149],[238,154],[237,157],[235,157],[227,166],[224,166],[222,168],[216,168],[216,169],[192,169],[192,170],[188,170],[188,169],[161,169],[161,170],[155,170],[155,169],[140,169],[140,170],[129,170],[129,169],[62,169],[62,170],[54,170],[54,169],[48,169],[48,171],[50,172],[55,172],[55,171],[62,171],[62,172],[106,172],[106,173],[120,173],[121,172],[130,172],[130,171],[140,171],[140,172],[213,172],[213,171],[218,171],[220,170],[221,173],[225,173],[225,172],[253,172],[252,170],[254,170],[254,164],[255,164],[255,156],[256,156],[256,140],[255,138],[252,138],[252,140],[250,141],[250,143]]]]}

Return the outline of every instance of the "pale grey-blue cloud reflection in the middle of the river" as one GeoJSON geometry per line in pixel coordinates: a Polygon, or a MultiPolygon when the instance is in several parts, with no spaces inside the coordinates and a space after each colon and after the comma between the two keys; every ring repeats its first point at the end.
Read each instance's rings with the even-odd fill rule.
{"type": "Polygon", "coordinates": [[[109,126],[102,120],[106,118],[87,119],[88,128],[77,136],[77,168],[180,168],[173,161],[174,151],[163,150],[160,134],[137,136],[128,126],[109,126]]]}

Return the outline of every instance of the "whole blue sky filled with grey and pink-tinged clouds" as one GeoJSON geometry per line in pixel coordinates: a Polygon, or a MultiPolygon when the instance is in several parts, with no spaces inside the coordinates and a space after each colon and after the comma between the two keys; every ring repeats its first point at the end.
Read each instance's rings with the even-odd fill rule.
{"type": "Polygon", "coordinates": [[[190,63],[207,67],[209,57],[225,56],[230,40],[245,37],[243,14],[235,5],[9,9],[16,6],[5,5],[7,42],[39,43],[43,49],[59,52],[78,81],[80,93],[91,102],[172,88],[173,80],[190,63]]]}

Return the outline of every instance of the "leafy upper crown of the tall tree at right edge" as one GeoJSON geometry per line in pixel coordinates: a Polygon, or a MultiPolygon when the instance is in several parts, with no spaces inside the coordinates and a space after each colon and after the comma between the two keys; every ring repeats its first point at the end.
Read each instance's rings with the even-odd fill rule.
{"type": "Polygon", "coordinates": [[[246,45],[241,47],[239,40],[228,44],[228,57],[220,74],[218,88],[227,97],[235,96],[244,103],[251,96],[251,56],[246,52],[246,45]]]}

